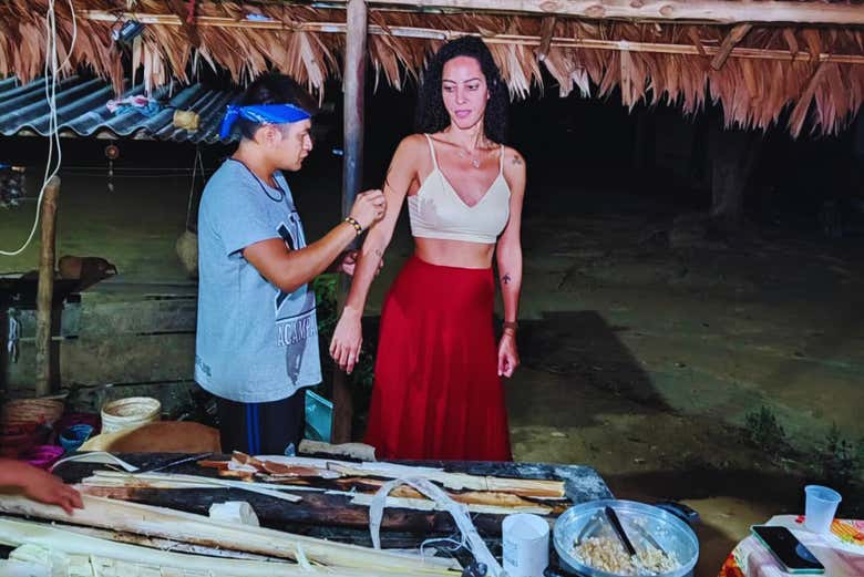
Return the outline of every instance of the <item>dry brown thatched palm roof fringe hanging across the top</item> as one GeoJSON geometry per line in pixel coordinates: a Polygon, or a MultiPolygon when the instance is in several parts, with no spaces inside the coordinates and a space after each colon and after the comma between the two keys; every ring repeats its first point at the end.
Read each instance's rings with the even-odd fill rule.
{"type": "MultiPolygon", "coordinates": [[[[340,74],[343,2],[312,8],[276,1],[197,1],[192,3],[194,18],[187,13],[188,0],[73,2],[76,40],[69,72],[89,66],[117,87],[123,82],[123,50],[131,51],[135,68],[143,66],[150,86],[172,78],[192,81],[189,74],[203,65],[224,68],[240,83],[276,68],[318,92],[327,78],[340,74]],[[111,30],[125,18],[145,22],[146,29],[124,49],[111,40],[111,30]]],[[[28,81],[42,73],[47,4],[0,3],[0,75],[28,81]]],[[[60,0],[55,10],[63,49],[70,45],[72,18],[60,0]]],[[[862,23],[864,4],[857,1],[390,0],[387,6],[370,6],[368,47],[377,78],[394,86],[416,78],[442,42],[467,33],[490,44],[515,97],[525,96],[532,85],[543,86],[545,69],[562,95],[578,90],[607,96],[617,87],[624,105],[669,101],[688,113],[710,99],[722,104],[730,125],[765,128],[791,111],[788,125],[793,135],[805,125],[830,134],[851,122],[864,103],[862,23]],[[446,9],[483,2],[518,12],[446,9]],[[412,9],[420,3],[426,8],[412,9]],[[430,11],[430,4],[445,9],[430,11]],[[729,10],[736,4],[747,8],[741,13],[750,21],[736,22],[736,9],[729,10]],[[782,4],[786,11],[769,10],[761,18],[753,12],[758,4],[769,9],[782,4]],[[649,8],[650,13],[627,19],[627,10],[649,8]],[[689,11],[672,14],[664,12],[667,8],[689,11]],[[773,21],[803,11],[809,22],[773,21]],[[673,16],[683,20],[672,20],[673,16]],[[844,21],[852,23],[839,23],[844,21]]]]}

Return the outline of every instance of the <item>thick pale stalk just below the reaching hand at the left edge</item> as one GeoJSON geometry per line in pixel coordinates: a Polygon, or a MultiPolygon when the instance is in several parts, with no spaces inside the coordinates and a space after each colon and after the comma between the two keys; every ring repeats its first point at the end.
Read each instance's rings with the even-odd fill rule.
{"type": "Polygon", "coordinates": [[[16,495],[0,495],[0,512],[294,560],[301,548],[309,560],[335,567],[387,568],[439,575],[448,575],[449,569],[455,567],[455,561],[451,559],[374,550],[264,527],[239,527],[202,515],[137,503],[90,495],[82,495],[82,498],[84,508],[68,515],[54,505],[43,505],[16,495]]]}

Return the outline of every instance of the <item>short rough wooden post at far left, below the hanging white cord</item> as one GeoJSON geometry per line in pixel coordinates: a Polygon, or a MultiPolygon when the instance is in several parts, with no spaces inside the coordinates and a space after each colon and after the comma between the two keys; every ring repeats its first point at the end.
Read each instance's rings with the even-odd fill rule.
{"type": "Polygon", "coordinates": [[[51,311],[54,296],[54,240],[56,230],[56,199],[60,195],[60,178],[56,176],[45,185],[42,197],[42,246],[39,251],[39,290],[37,293],[35,337],[35,395],[51,393],[51,311]]]}

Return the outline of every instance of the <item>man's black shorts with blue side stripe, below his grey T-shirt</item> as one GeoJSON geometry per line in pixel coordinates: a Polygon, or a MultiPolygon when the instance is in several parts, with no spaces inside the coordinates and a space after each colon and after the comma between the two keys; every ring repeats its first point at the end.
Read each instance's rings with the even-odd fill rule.
{"type": "Polygon", "coordinates": [[[297,451],[306,426],[306,389],[269,403],[216,398],[223,453],[286,455],[297,451]]]}

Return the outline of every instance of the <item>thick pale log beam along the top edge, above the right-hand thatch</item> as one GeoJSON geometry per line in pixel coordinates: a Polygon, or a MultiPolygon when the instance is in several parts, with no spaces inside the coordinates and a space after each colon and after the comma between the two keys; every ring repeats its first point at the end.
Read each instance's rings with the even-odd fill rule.
{"type": "MultiPolygon", "coordinates": [[[[336,3],[336,2],[335,2],[336,3]]],[[[864,24],[864,7],[853,3],[760,2],[728,0],[381,0],[374,4],[419,7],[420,10],[515,12],[597,20],[688,21],[713,24],[740,22],[864,24]]]]}

